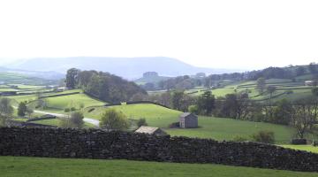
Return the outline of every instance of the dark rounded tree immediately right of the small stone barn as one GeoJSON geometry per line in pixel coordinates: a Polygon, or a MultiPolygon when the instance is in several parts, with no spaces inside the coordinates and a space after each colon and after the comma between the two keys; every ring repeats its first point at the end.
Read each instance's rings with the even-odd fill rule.
{"type": "Polygon", "coordinates": [[[198,111],[204,115],[210,115],[213,108],[215,108],[216,98],[212,95],[210,90],[205,91],[201,96],[198,97],[198,111]]]}

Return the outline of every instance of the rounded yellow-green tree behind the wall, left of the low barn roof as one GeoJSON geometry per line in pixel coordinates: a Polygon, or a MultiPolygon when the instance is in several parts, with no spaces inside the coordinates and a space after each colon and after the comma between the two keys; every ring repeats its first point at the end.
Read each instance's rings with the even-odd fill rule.
{"type": "Polygon", "coordinates": [[[129,127],[129,121],[123,112],[109,108],[102,113],[100,127],[107,130],[125,130],[129,127]]]}

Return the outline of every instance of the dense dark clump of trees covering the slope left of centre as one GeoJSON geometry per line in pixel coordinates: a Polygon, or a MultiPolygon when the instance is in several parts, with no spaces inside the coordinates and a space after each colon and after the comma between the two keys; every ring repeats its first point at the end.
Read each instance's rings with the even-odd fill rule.
{"type": "Polygon", "coordinates": [[[84,89],[88,95],[109,103],[128,101],[136,94],[147,95],[133,81],[125,81],[110,73],[72,68],[67,71],[65,82],[70,89],[84,89]]]}

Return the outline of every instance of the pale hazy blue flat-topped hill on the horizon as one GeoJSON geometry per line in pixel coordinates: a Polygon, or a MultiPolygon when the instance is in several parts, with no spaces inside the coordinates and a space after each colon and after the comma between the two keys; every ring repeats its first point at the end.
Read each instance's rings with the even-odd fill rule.
{"type": "Polygon", "coordinates": [[[186,64],[175,58],[30,58],[8,67],[30,71],[55,71],[65,73],[75,67],[81,70],[96,70],[114,73],[127,79],[138,79],[142,73],[153,71],[163,76],[178,76],[195,73],[231,73],[233,70],[211,69],[186,64]]]}

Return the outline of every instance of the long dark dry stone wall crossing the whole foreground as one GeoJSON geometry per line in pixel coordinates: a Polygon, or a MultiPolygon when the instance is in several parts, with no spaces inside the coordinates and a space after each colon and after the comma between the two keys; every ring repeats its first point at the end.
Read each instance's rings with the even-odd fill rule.
{"type": "Polygon", "coordinates": [[[98,129],[1,127],[1,156],[212,163],[318,172],[318,154],[256,142],[153,136],[98,129]]]}

